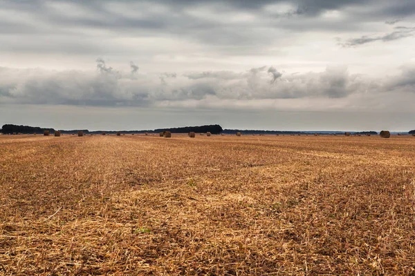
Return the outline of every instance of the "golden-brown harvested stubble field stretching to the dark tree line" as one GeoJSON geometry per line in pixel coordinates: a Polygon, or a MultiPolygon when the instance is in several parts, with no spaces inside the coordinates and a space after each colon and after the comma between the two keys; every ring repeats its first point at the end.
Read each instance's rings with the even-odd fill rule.
{"type": "Polygon", "coordinates": [[[415,137],[0,136],[0,275],[415,275],[415,137]]]}

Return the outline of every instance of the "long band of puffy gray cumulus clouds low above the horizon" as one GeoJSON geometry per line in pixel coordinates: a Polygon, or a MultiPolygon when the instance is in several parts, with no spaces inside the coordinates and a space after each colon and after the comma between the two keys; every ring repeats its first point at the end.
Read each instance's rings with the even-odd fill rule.
{"type": "MultiPolygon", "coordinates": [[[[400,75],[370,79],[350,75],[346,66],[329,66],[322,72],[287,74],[272,66],[244,72],[214,71],[177,75],[122,74],[98,59],[95,74],[78,71],[16,70],[0,68],[0,103],[62,104],[74,106],[154,106],[161,102],[266,99],[341,99],[388,90],[409,90],[415,85],[414,67],[400,75]],[[113,74],[113,72],[118,72],[113,74]],[[273,79],[269,81],[269,74],[273,79]],[[157,81],[159,79],[159,81],[157,81]],[[280,81],[275,82],[276,79],[280,81]],[[161,83],[160,83],[161,80],[161,83]],[[374,85],[373,83],[376,83],[374,85]]],[[[232,103],[230,103],[232,105],[232,103]]]]}

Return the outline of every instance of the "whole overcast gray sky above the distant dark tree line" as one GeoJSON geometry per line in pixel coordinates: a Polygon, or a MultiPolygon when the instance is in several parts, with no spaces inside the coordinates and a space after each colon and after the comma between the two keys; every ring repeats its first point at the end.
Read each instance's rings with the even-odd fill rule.
{"type": "Polygon", "coordinates": [[[411,130],[415,1],[3,0],[0,124],[411,130]]]}

